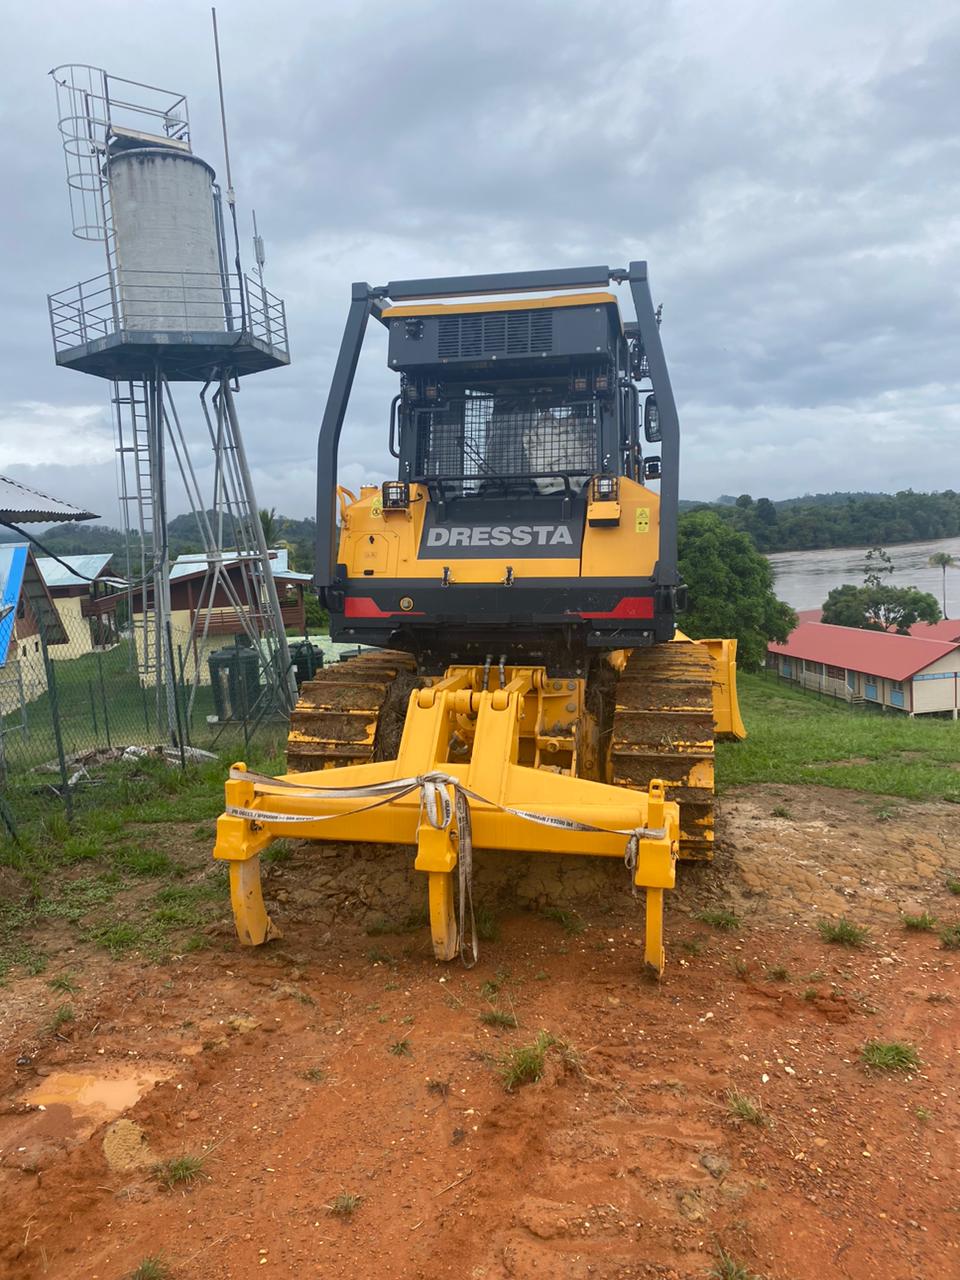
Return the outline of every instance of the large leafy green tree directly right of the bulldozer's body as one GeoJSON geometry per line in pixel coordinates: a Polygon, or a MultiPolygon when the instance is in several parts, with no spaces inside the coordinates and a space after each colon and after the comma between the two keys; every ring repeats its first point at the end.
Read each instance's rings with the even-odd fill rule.
{"type": "Polygon", "coordinates": [[[695,639],[735,637],[741,666],[762,667],[767,644],[782,643],[796,626],[794,611],[773,594],[769,562],[712,511],[681,516],[678,550],[689,591],[682,630],[695,639]]]}

